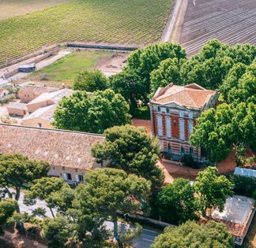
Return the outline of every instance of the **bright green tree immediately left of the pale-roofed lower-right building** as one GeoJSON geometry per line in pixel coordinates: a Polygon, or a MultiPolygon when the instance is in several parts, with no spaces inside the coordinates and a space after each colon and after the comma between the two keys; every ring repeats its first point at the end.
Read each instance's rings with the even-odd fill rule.
{"type": "Polygon", "coordinates": [[[223,211],[227,196],[233,194],[234,184],[225,176],[218,176],[217,168],[208,167],[199,172],[193,186],[201,214],[206,216],[207,210],[211,215],[216,207],[223,211]]]}

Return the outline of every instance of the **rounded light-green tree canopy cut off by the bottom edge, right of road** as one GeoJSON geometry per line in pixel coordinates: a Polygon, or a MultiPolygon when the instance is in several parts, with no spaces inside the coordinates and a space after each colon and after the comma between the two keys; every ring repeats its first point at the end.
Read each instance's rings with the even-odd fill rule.
{"type": "Polygon", "coordinates": [[[205,225],[187,221],[178,228],[165,228],[151,248],[218,247],[233,248],[234,240],[223,223],[213,220],[205,225]]]}

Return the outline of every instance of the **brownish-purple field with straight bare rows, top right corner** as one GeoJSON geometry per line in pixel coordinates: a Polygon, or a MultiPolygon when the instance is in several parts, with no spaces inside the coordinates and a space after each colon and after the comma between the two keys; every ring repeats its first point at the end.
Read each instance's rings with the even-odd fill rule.
{"type": "Polygon", "coordinates": [[[186,9],[179,43],[195,54],[208,39],[256,45],[255,0],[194,0],[186,9]]]}

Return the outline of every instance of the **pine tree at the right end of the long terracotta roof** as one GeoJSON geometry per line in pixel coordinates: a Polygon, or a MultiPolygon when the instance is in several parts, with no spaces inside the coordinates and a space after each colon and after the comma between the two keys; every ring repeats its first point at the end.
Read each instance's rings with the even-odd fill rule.
{"type": "Polygon", "coordinates": [[[107,161],[108,166],[122,168],[127,173],[143,176],[160,187],[163,172],[156,166],[160,155],[159,141],[147,134],[145,128],[125,125],[107,129],[104,143],[92,147],[92,156],[107,161]]]}

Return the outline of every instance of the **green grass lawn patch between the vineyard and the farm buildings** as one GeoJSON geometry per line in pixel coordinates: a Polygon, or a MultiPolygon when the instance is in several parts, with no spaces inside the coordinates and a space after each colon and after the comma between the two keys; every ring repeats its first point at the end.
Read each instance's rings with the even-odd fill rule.
{"type": "Polygon", "coordinates": [[[111,57],[114,52],[111,51],[81,51],[73,54],[69,54],[66,57],[56,61],[55,63],[48,65],[46,68],[40,69],[28,76],[29,80],[43,80],[63,82],[71,84],[74,77],[82,69],[96,68],[96,65],[101,59],[111,57]]]}

